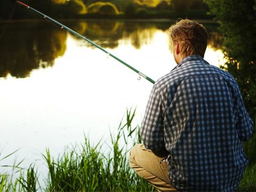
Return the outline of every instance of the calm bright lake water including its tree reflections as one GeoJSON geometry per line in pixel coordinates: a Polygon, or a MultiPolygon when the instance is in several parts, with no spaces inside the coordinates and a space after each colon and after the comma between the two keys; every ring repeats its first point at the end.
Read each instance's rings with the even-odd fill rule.
{"type": "MultiPolygon", "coordinates": [[[[167,34],[171,21],[63,23],[154,80],[175,67],[167,34]]],[[[219,66],[217,25],[205,26],[205,60],[219,66]]],[[[9,23],[0,43],[0,159],[20,149],[17,158],[25,158],[26,167],[42,164],[46,147],[57,156],[84,141],[84,134],[91,142],[108,142],[126,108],[137,107],[134,123],[141,123],[153,84],[138,81],[138,74],[106,53],[45,21],[9,23]]],[[[0,165],[13,161],[14,156],[0,165]]]]}

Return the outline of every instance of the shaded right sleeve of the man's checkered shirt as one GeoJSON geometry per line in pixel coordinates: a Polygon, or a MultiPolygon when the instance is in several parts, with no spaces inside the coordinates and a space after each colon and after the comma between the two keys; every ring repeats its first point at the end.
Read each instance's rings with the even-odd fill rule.
{"type": "MultiPolygon", "coordinates": [[[[238,85],[237,85],[238,87],[238,85]]],[[[239,88],[237,88],[238,92],[238,114],[236,119],[236,130],[238,133],[238,137],[241,141],[247,141],[251,138],[253,133],[253,121],[245,109],[243,98],[239,88]]]]}

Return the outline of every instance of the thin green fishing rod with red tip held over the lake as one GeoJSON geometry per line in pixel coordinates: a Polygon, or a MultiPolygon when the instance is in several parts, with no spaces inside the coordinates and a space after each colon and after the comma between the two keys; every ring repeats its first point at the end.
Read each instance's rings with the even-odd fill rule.
{"type": "Polygon", "coordinates": [[[26,5],[25,3],[22,3],[22,2],[20,2],[20,1],[17,1],[17,3],[19,3],[20,5],[23,5],[23,6],[27,7],[27,9],[29,9],[29,10],[35,12],[35,13],[41,15],[44,19],[48,19],[48,20],[54,22],[55,24],[57,24],[58,26],[60,26],[61,29],[65,29],[65,30],[69,31],[70,33],[72,33],[72,34],[74,34],[74,35],[76,35],[76,36],[82,38],[84,41],[86,41],[86,42],[92,44],[93,46],[97,47],[97,48],[100,49],[101,51],[107,53],[108,56],[110,56],[110,57],[116,59],[117,61],[121,62],[121,63],[122,63],[123,65],[125,65],[126,67],[129,67],[130,69],[132,69],[133,71],[135,71],[137,74],[139,74],[141,77],[146,78],[148,81],[150,81],[150,82],[153,83],[153,84],[155,83],[155,81],[154,81],[153,79],[149,78],[149,77],[146,76],[145,74],[141,73],[139,70],[137,70],[137,69],[133,68],[132,66],[128,65],[126,62],[124,62],[124,61],[122,61],[121,59],[117,58],[115,55],[109,53],[108,51],[106,51],[105,49],[103,49],[101,46],[99,46],[99,45],[93,43],[90,39],[87,39],[86,37],[84,37],[84,36],[78,34],[76,31],[74,31],[74,30],[68,28],[67,26],[65,26],[65,25],[63,25],[62,23],[60,23],[60,22],[58,22],[58,21],[56,21],[56,20],[50,18],[49,16],[47,16],[47,15],[41,13],[40,11],[37,11],[37,10],[34,9],[33,7],[30,7],[30,6],[26,5]]]}

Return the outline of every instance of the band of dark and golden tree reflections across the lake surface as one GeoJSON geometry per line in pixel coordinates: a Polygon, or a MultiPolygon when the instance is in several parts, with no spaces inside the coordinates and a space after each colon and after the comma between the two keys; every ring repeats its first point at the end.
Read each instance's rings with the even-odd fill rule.
{"type": "MultiPolygon", "coordinates": [[[[64,24],[103,48],[115,49],[122,40],[126,44],[131,43],[135,49],[141,49],[143,45],[153,41],[157,30],[167,33],[171,22],[89,20],[66,21],[64,24]]],[[[221,38],[216,32],[216,27],[206,25],[210,34],[209,46],[215,50],[221,47],[221,38]]],[[[2,28],[3,23],[0,25],[1,30],[2,28]]],[[[53,66],[54,60],[65,53],[66,41],[66,31],[44,21],[10,23],[0,39],[0,77],[10,74],[24,78],[28,77],[33,69],[53,66]]],[[[79,45],[93,47],[89,43],[83,45],[82,41],[79,45]]]]}

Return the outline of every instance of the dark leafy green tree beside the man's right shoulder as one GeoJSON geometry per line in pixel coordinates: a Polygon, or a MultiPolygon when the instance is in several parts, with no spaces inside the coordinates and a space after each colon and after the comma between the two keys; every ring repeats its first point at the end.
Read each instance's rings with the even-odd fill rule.
{"type": "Polygon", "coordinates": [[[256,0],[206,0],[220,23],[222,67],[237,80],[247,110],[256,115],[256,0]]]}

